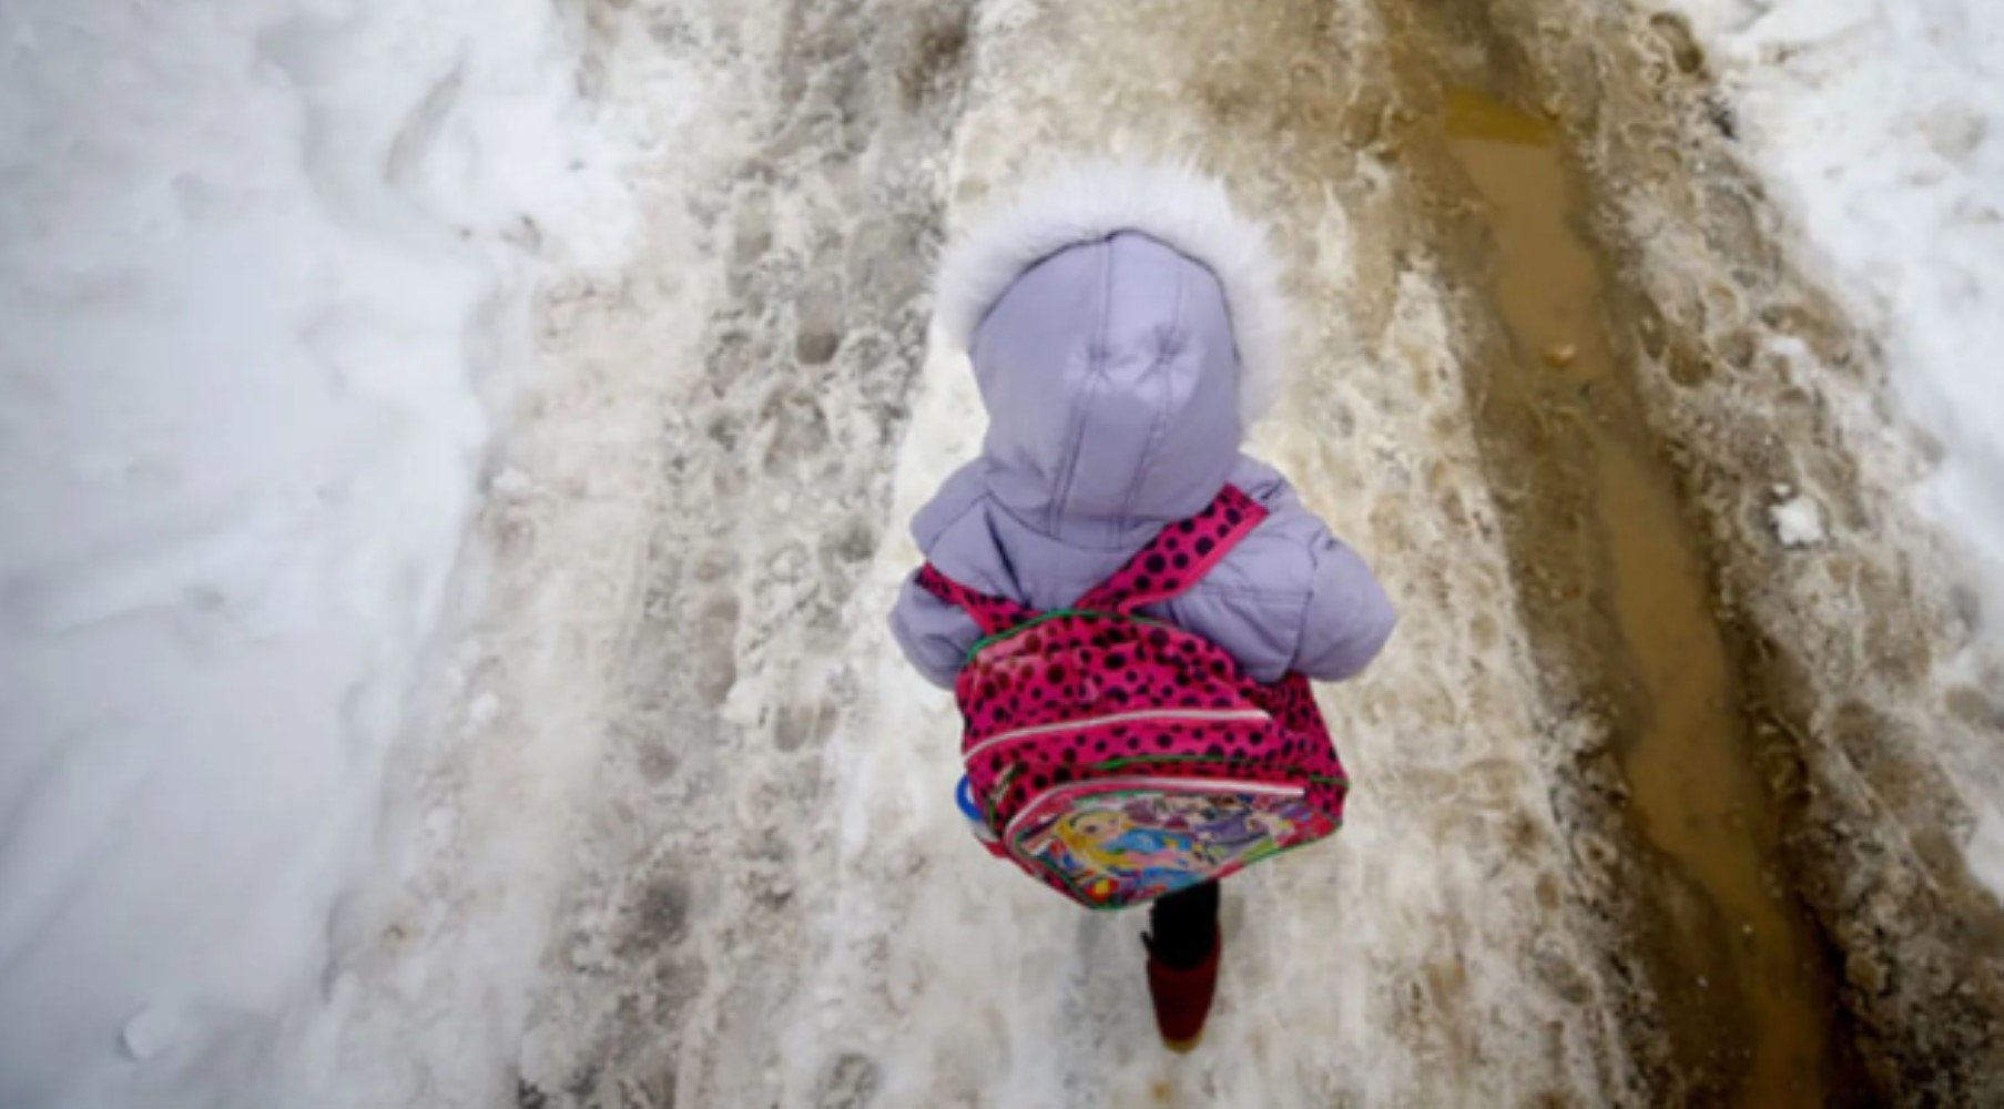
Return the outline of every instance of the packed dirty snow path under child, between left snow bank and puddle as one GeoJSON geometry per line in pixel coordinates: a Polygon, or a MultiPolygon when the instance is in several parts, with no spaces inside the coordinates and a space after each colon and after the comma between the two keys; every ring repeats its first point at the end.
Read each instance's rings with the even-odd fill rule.
{"type": "MultiPolygon", "coordinates": [[[[1481,267],[1441,215],[1439,152],[1415,146],[1439,84],[1493,72],[1453,72],[1397,12],[1307,0],[631,4],[593,26],[607,96],[709,108],[657,122],[675,156],[647,261],[551,295],[551,351],[581,369],[505,447],[495,626],[441,710],[481,740],[409,778],[413,820],[451,816],[407,860],[415,918],[357,961],[359,995],[391,1001],[359,1013],[347,1059],[385,1085],[355,1103],[1521,1103],[1747,1081],[1766,1033],[1735,1023],[1733,989],[1681,1017],[1665,995],[1709,989],[1679,943],[1739,922],[1621,816],[1601,752],[1623,714],[1593,698],[1627,678],[1555,674],[1563,644],[1533,638],[1565,632],[1519,610],[1535,570],[1497,475],[1521,493],[1469,393],[1481,267]],[[954,211],[1064,148],[1198,158],[1283,229],[1305,327],[1257,449],[1405,616],[1325,698],[1367,782],[1351,826],[1232,884],[1188,1059],[1152,1045],[1136,918],[1084,918],[968,842],[952,710],[882,622],[916,560],[902,521],[982,427],[958,359],[928,359],[926,259],[954,211]],[[501,971],[503,941],[541,945],[535,981],[501,971]],[[411,1021],[449,1039],[409,1051],[411,1021]]],[[[1683,72],[1675,26],[1637,28],[1625,48],[1683,72]]],[[[1850,1045],[1820,1051],[1822,1081],[1856,1079],[1850,1045]]]]}

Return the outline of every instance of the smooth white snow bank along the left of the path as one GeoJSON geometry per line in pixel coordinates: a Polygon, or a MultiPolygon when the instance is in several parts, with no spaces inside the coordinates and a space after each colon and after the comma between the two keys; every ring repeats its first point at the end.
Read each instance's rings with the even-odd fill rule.
{"type": "Polygon", "coordinates": [[[20,0],[0,44],[0,1105],[271,1105],[619,166],[535,0],[20,0]]]}

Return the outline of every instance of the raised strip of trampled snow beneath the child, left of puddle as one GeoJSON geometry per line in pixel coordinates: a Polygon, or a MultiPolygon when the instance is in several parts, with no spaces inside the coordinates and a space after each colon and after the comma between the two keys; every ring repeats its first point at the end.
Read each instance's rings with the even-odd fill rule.
{"type": "MultiPolygon", "coordinates": [[[[1034,172],[1048,150],[1122,134],[1130,118],[1146,128],[1128,124],[1126,136],[1186,142],[1240,170],[1240,184],[1289,180],[1291,152],[1263,144],[1257,126],[1216,128],[1196,98],[1162,90],[1188,86],[1192,50],[1271,62],[1299,28],[1228,6],[1132,22],[1118,20],[1122,6],[1066,10],[1076,24],[1022,30],[986,24],[984,12],[950,219],[972,209],[962,199],[1034,172]],[[1130,64],[1102,64],[1098,20],[1120,26],[1130,64]]],[[[1373,76],[1345,64],[1331,96],[1373,76]]],[[[1186,1059],[1152,1049],[1138,914],[1082,916],[968,836],[950,796],[954,750],[940,742],[954,710],[882,628],[918,558],[900,527],[846,622],[864,696],[828,736],[834,858],[802,866],[792,892],[818,920],[806,981],[778,1015],[725,1025],[780,1031],[780,1051],[733,1071],[760,1075],[770,1059],[780,1083],[719,1083],[711,1101],[729,1091],[842,1105],[836,1091],[856,1075],[878,1105],[1403,1105],[1619,1081],[1607,1077],[1619,1063],[1599,1055],[1609,1037],[1583,971],[1583,929],[1537,896],[1569,848],[1535,784],[1533,682],[1517,644],[1465,624],[1501,628],[1513,600],[1495,531],[1473,523],[1493,521],[1493,507],[1475,485],[1473,433],[1457,423],[1467,399],[1445,297],[1407,271],[1385,281],[1389,319],[1357,319],[1367,267],[1399,227],[1375,209],[1399,193],[1369,184],[1383,176],[1355,154],[1301,193],[1250,193],[1257,211],[1305,229],[1291,261],[1309,301],[1301,315],[1319,321],[1315,357],[1307,343],[1291,351],[1303,377],[1257,449],[1413,604],[1401,608],[1397,646],[1325,700],[1349,766],[1373,782],[1353,796],[1349,826],[1226,884],[1230,967],[1204,1049],[1186,1059]],[[1445,461],[1429,471],[1427,459],[1445,461]],[[1421,493],[1429,479],[1439,497],[1421,493]],[[1459,1059],[1485,1067],[1461,1073],[1459,1059]]],[[[964,357],[930,355],[894,471],[886,515],[898,523],[976,449],[984,425],[964,357]]],[[[723,1069],[689,1049],[677,1061],[701,1067],[697,1077],[723,1069]]],[[[703,1101],[703,1087],[687,1097],[691,1085],[681,1071],[677,1101],[703,1101]]]]}

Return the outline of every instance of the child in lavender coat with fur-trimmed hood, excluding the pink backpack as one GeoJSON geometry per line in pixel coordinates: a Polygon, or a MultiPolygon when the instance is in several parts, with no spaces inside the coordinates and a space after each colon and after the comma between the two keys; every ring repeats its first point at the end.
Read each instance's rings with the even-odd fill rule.
{"type": "MultiPolygon", "coordinates": [[[[1066,170],[952,243],[938,325],[968,351],[990,423],[980,457],[912,521],[930,564],[1062,610],[1228,483],[1271,515],[1140,614],[1224,648],[1257,682],[1363,670],[1391,636],[1391,602],[1279,471],[1238,451],[1281,391],[1275,269],[1218,184],[1160,166],[1066,170]]],[[[892,630],[940,686],[982,638],[916,574],[892,630]]],[[[1216,882],[1150,908],[1148,985],[1172,1047],[1196,1041],[1210,1007],[1216,912],[1216,882]]]]}

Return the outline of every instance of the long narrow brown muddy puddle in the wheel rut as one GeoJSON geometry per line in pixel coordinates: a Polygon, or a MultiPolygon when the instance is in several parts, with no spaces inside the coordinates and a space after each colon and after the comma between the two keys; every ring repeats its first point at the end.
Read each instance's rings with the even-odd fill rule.
{"type": "MultiPolygon", "coordinates": [[[[1575,586],[1577,600],[1611,624],[1597,638],[1621,656],[1601,666],[1629,702],[1617,718],[1631,814],[1701,902],[1695,912],[1655,906],[1665,918],[1657,933],[1675,947],[1665,963],[1689,979],[1659,983],[1675,1055],[1713,1069],[1717,1079],[1697,1089],[1729,1091],[1735,1103],[1820,1105],[1840,1055],[1834,993],[1808,925],[1770,878],[1780,874],[1774,822],[1749,766],[1705,570],[1671,473],[1649,451],[1617,375],[1601,269],[1569,225],[1553,130],[1455,90],[1445,132],[1481,199],[1493,243],[1489,299],[1515,351],[1483,367],[1479,393],[1515,413],[1519,453],[1545,455],[1529,467],[1569,471],[1557,483],[1569,489],[1565,511],[1581,535],[1573,568],[1591,578],[1575,586]]],[[[1551,483],[1533,479],[1527,495],[1543,497],[1551,483]]]]}

